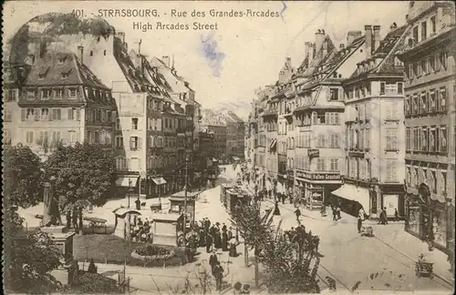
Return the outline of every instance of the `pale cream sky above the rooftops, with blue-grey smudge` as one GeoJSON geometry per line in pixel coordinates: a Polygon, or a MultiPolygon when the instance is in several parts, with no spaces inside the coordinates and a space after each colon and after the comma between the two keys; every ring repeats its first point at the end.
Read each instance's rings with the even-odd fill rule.
{"type": "Polygon", "coordinates": [[[381,25],[385,36],[389,25],[405,23],[406,1],[335,2],[178,2],[178,1],[20,1],[4,4],[4,37],[9,39],[21,25],[48,12],[98,15],[98,9],[156,9],[158,16],[104,17],[116,30],[126,34],[129,48],[150,56],[174,56],[178,75],[185,77],[196,91],[202,107],[229,107],[246,118],[254,90],[274,84],[289,56],[299,66],[305,56],[305,42],[314,42],[317,29],[325,29],[334,44],[346,43],[347,31],[364,31],[364,25],[381,25]],[[172,16],[172,9],[186,12],[172,16]],[[212,17],[217,12],[269,11],[278,17],[212,17]],[[192,17],[193,11],[205,17],[192,17]],[[187,24],[189,30],[157,30],[158,22],[187,24]],[[217,24],[216,30],[193,30],[193,22],[217,24]],[[134,23],[150,24],[143,32],[134,23]]]}

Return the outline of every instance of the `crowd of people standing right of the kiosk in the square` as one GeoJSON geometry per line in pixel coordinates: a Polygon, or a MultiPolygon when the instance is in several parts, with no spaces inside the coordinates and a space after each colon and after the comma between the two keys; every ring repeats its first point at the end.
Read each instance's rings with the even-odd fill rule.
{"type": "Polygon", "coordinates": [[[192,225],[195,232],[198,233],[198,246],[205,247],[206,252],[210,253],[212,249],[222,249],[229,251],[230,257],[237,256],[236,246],[239,243],[239,235],[232,227],[227,227],[224,223],[211,223],[211,220],[204,218],[192,225]]]}

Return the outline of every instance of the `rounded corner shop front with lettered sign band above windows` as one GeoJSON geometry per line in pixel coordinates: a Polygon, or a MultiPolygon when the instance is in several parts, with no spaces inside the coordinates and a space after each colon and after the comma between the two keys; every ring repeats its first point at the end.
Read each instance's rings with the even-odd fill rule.
{"type": "Polygon", "coordinates": [[[295,171],[297,197],[308,209],[321,209],[331,201],[331,192],[340,187],[339,173],[295,171]]]}

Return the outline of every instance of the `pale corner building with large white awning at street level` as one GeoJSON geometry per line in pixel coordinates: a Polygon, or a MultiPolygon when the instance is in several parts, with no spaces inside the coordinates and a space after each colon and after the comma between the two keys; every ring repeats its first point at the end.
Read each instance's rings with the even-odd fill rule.
{"type": "MultiPolygon", "coordinates": [[[[370,27],[368,27],[368,30],[370,27]]],[[[343,82],[345,90],[345,183],[333,191],[348,213],[362,207],[370,218],[382,209],[404,216],[403,65],[394,53],[402,46],[407,25],[390,26],[379,40],[378,25],[366,35],[371,51],[343,82]],[[369,41],[372,36],[372,41],[369,41]]]]}

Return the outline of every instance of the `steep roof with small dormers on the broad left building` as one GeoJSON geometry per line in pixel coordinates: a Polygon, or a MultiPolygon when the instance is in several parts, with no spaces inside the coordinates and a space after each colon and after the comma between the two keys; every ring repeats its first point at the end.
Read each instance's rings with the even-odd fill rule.
{"type": "Polygon", "coordinates": [[[37,58],[26,78],[27,86],[85,85],[109,89],[103,85],[77,56],[67,52],[47,51],[37,58]]]}

